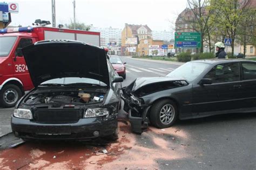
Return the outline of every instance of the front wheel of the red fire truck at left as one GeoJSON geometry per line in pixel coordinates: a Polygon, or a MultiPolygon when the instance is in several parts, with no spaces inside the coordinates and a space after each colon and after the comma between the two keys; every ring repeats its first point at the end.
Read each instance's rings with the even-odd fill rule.
{"type": "Polygon", "coordinates": [[[22,97],[22,90],[14,85],[5,85],[0,91],[0,105],[3,107],[14,107],[22,97]]]}

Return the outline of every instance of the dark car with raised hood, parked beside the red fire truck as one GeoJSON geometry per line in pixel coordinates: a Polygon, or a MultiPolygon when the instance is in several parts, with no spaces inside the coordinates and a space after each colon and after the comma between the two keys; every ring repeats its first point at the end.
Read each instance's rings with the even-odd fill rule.
{"type": "Polygon", "coordinates": [[[17,103],[11,119],[24,140],[117,139],[123,81],[96,46],[45,40],[23,49],[35,89],[17,103]]]}

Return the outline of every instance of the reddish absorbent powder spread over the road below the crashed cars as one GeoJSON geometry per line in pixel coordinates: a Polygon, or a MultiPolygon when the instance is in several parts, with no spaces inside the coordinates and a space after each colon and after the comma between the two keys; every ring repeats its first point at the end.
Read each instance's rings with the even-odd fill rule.
{"type": "Polygon", "coordinates": [[[150,127],[137,135],[131,133],[129,123],[119,122],[118,126],[119,139],[106,144],[25,142],[0,151],[0,169],[159,169],[158,160],[187,157],[185,145],[181,144],[188,135],[183,131],[150,127]]]}

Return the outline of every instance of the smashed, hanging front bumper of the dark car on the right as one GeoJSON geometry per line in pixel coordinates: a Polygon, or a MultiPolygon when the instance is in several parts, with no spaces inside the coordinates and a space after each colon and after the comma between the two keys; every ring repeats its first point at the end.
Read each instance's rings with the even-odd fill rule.
{"type": "Polygon", "coordinates": [[[122,99],[124,100],[124,111],[129,113],[132,132],[141,134],[149,125],[146,116],[151,106],[142,104],[143,101],[133,95],[127,96],[124,89],[122,99]]]}

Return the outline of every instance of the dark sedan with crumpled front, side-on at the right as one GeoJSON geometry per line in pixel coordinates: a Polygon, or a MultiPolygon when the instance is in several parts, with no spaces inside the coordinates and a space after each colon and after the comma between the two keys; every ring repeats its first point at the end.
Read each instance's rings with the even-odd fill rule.
{"type": "Polygon", "coordinates": [[[196,60],[166,77],[137,78],[123,88],[133,132],[151,123],[170,127],[177,118],[256,111],[256,62],[196,60]]]}

